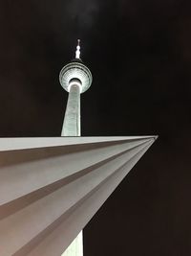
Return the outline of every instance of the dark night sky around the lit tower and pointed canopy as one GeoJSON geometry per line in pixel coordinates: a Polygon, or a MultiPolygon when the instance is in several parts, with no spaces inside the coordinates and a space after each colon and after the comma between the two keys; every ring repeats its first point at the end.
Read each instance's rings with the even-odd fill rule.
{"type": "Polygon", "coordinates": [[[84,231],[84,256],[191,255],[191,2],[2,0],[0,136],[59,136],[76,39],[82,133],[159,140],[84,231]]]}

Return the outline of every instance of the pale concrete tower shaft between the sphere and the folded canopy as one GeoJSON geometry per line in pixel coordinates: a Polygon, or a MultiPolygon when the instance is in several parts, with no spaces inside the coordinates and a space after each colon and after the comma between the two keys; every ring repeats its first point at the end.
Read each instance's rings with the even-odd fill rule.
{"type": "Polygon", "coordinates": [[[71,86],[61,136],[80,136],[80,88],[71,86]]]}

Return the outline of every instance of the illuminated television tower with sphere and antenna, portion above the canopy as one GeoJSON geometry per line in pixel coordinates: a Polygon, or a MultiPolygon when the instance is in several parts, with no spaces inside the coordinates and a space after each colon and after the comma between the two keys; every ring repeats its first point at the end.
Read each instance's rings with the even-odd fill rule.
{"type": "Polygon", "coordinates": [[[75,58],[65,65],[59,74],[62,87],[69,92],[61,136],[80,136],[80,94],[92,84],[90,69],[80,58],[80,40],[77,40],[75,58]]]}

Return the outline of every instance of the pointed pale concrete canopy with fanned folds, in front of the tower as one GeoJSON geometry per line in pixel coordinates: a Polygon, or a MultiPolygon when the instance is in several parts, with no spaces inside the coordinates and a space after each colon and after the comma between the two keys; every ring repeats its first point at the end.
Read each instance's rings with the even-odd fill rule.
{"type": "Polygon", "coordinates": [[[60,256],[155,139],[1,138],[1,255],[60,256]]]}

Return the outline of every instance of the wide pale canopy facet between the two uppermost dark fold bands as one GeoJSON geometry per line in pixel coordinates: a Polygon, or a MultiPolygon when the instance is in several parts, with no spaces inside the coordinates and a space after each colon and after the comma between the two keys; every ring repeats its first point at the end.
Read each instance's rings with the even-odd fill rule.
{"type": "MultiPolygon", "coordinates": [[[[145,140],[145,142],[147,140],[145,140]]],[[[143,142],[135,141],[134,143],[137,145],[141,145],[141,143],[143,142]]],[[[100,151],[103,151],[103,153],[105,153],[105,151],[108,151],[107,153],[105,153],[105,155],[99,154],[99,156],[97,156],[96,152],[98,152],[99,149],[96,149],[96,151],[89,151],[89,153],[87,154],[86,152],[79,152],[79,153],[76,153],[75,155],[74,154],[62,155],[58,158],[48,158],[41,162],[32,161],[27,164],[13,166],[11,168],[10,167],[1,168],[0,169],[0,177],[1,177],[0,178],[0,192],[1,192],[0,205],[8,203],[12,199],[21,198],[27,194],[30,194],[36,191],[37,189],[41,189],[45,186],[52,184],[53,182],[60,180],[61,178],[71,175],[71,172],[69,172],[69,170],[73,170],[74,172],[73,174],[75,174],[79,171],[78,168],[81,168],[81,170],[83,170],[85,168],[88,168],[91,165],[96,164],[97,162],[100,162],[104,159],[107,159],[117,154],[118,152],[126,151],[126,147],[128,147],[129,150],[135,147],[134,145],[131,146],[128,144],[129,142],[118,145],[118,149],[116,149],[115,146],[111,146],[112,148],[108,147],[107,149],[101,148],[100,151]],[[79,163],[79,167],[76,167],[76,164],[74,163],[74,161],[70,162],[70,158],[71,156],[73,156],[73,159],[77,159],[79,154],[81,154],[81,156],[84,157],[83,158],[84,161],[83,163],[82,162],[79,163]],[[90,156],[93,158],[91,160],[91,163],[88,162],[90,161],[90,156]],[[74,168],[74,165],[75,165],[75,168],[74,168]],[[30,173],[28,172],[28,169],[31,170],[30,173]],[[44,178],[39,179],[38,175],[39,176],[43,175],[44,178]],[[53,178],[51,178],[50,175],[52,175],[53,178]],[[22,184],[22,188],[21,188],[21,184],[22,184]]]]}

